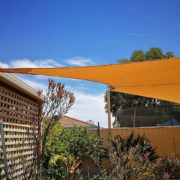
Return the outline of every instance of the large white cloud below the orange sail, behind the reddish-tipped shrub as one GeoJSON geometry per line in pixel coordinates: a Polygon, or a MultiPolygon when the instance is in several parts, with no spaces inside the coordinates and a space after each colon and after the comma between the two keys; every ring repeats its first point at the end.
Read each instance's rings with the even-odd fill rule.
{"type": "MultiPolygon", "coordinates": [[[[47,88],[47,81],[37,82],[34,81],[32,78],[31,80],[22,78],[21,79],[26,82],[28,85],[35,89],[43,89],[47,88]]],[[[73,91],[73,87],[66,85],[66,89],[73,91]]],[[[96,124],[100,122],[101,127],[108,126],[108,117],[107,113],[105,113],[104,109],[104,94],[91,94],[91,93],[84,93],[82,91],[74,91],[75,95],[75,103],[72,108],[68,112],[68,116],[87,121],[92,120],[96,124]]],[[[113,122],[113,119],[112,119],[113,122]]]]}

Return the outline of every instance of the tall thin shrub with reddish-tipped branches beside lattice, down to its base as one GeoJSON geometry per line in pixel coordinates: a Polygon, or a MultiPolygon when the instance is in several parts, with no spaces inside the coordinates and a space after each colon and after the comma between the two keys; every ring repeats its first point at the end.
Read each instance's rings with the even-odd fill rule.
{"type": "MultiPolygon", "coordinates": [[[[41,166],[44,165],[47,138],[53,127],[58,123],[57,120],[72,107],[75,97],[72,92],[65,89],[65,86],[62,83],[56,83],[52,79],[49,79],[48,81],[47,90],[45,92],[39,90],[37,94],[44,99],[41,114],[42,134],[37,134],[36,130],[33,129],[31,138],[33,138],[35,142],[33,151],[37,154],[35,160],[37,161],[36,169],[38,169],[39,173],[41,166]],[[58,118],[56,118],[57,116],[58,118]]],[[[40,173],[38,178],[40,178],[40,173]]]]}

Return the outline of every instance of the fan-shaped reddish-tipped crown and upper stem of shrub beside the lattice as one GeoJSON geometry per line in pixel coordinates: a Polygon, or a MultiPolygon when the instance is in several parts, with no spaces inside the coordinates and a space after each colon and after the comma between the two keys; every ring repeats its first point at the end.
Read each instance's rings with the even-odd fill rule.
{"type": "MultiPolygon", "coordinates": [[[[38,91],[38,94],[41,96],[43,92],[38,91]]],[[[44,156],[44,148],[49,132],[57,123],[57,120],[69,111],[75,101],[74,94],[67,91],[64,84],[56,83],[52,79],[49,79],[48,88],[43,97],[42,157],[44,156]]]]}

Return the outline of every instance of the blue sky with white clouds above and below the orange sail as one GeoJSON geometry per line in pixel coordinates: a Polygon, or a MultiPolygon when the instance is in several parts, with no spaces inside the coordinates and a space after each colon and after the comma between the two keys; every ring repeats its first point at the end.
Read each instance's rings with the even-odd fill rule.
{"type": "MultiPolygon", "coordinates": [[[[115,64],[151,47],[180,56],[179,7],[179,0],[0,0],[0,66],[115,64]]],[[[45,76],[19,77],[47,86],[45,76]]],[[[107,127],[105,85],[55,80],[75,94],[67,115],[107,127]]]]}

